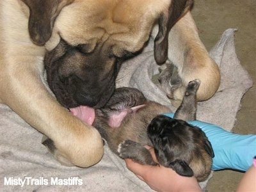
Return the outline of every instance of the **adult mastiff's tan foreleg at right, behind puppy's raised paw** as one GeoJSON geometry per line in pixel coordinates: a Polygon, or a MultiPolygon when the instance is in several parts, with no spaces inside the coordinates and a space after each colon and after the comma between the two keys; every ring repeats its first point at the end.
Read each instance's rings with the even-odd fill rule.
{"type": "MultiPolygon", "coordinates": [[[[157,28],[154,28],[152,36],[156,34],[157,28]]],[[[201,81],[197,100],[211,98],[220,85],[220,70],[202,44],[190,12],[186,13],[171,29],[168,46],[168,58],[178,68],[183,85],[173,95],[177,104],[182,101],[184,87],[194,79],[201,81]]]]}

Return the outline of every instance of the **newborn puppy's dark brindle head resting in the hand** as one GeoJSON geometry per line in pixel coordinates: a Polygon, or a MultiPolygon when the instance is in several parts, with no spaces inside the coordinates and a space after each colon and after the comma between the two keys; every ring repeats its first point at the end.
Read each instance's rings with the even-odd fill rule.
{"type": "Polygon", "coordinates": [[[148,125],[147,132],[160,164],[179,175],[195,175],[198,180],[209,175],[214,153],[201,129],[183,120],[159,115],[148,125]]]}

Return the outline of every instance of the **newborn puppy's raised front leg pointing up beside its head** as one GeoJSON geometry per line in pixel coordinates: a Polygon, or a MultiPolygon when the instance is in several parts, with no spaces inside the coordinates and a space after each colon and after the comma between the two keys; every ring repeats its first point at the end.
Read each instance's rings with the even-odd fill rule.
{"type": "Polygon", "coordinates": [[[188,83],[183,100],[174,118],[180,120],[196,120],[196,92],[200,86],[200,81],[195,79],[188,83]]]}

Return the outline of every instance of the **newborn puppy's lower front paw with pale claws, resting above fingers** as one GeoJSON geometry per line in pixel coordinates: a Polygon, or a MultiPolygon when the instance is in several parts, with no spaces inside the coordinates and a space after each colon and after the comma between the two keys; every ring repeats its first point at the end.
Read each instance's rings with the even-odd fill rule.
{"type": "Polygon", "coordinates": [[[118,145],[117,152],[123,159],[131,158],[140,164],[157,164],[152,159],[152,156],[147,148],[143,147],[141,143],[137,143],[135,141],[125,140],[123,143],[120,143],[118,145]]]}

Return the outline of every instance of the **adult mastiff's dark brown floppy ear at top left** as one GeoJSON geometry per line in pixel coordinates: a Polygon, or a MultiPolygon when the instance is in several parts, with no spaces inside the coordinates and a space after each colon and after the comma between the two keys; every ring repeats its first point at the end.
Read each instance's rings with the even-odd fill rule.
{"type": "Polygon", "coordinates": [[[74,0],[22,0],[29,7],[29,35],[37,45],[44,45],[61,9],[74,0]]]}

